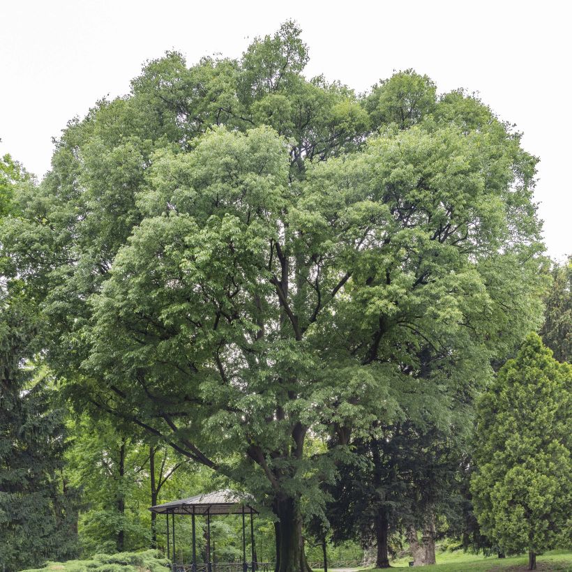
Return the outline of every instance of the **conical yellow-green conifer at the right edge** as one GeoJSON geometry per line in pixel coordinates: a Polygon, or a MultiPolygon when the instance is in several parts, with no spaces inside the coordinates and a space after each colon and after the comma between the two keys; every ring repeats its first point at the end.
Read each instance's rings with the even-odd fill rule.
{"type": "Polygon", "coordinates": [[[471,490],[484,534],[507,553],[569,541],[572,366],[536,334],[479,403],[471,490]]]}

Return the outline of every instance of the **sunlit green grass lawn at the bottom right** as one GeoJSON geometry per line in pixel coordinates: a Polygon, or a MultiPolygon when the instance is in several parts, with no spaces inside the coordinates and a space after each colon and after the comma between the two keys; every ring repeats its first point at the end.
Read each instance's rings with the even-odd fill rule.
{"type": "MultiPolygon", "coordinates": [[[[410,558],[405,557],[391,563],[396,568],[407,568],[410,558]]],[[[572,552],[567,550],[552,550],[536,557],[539,570],[562,570],[572,572],[572,552]]],[[[440,552],[437,554],[437,564],[423,566],[423,571],[436,570],[439,572],[496,572],[504,569],[511,571],[525,570],[528,566],[528,556],[515,556],[499,559],[496,556],[483,557],[469,554],[462,550],[455,552],[440,552]]]]}

